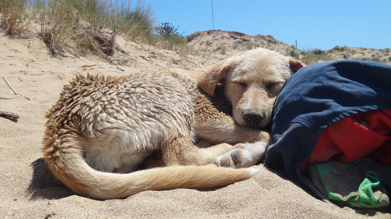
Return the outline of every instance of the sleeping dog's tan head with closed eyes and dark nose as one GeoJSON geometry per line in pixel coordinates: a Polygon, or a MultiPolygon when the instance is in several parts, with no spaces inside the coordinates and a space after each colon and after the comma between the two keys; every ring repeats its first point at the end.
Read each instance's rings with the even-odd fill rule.
{"type": "Polygon", "coordinates": [[[273,104],[282,85],[302,67],[300,62],[275,51],[258,48],[207,69],[198,86],[214,96],[221,84],[235,121],[241,126],[264,128],[272,119],[273,104]]]}

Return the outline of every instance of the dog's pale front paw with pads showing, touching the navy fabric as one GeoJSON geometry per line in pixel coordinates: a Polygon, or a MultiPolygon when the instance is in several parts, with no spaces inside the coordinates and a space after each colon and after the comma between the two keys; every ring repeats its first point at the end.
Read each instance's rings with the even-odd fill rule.
{"type": "Polygon", "coordinates": [[[226,167],[249,167],[264,158],[267,149],[265,142],[237,144],[232,150],[217,157],[216,163],[226,167]]]}

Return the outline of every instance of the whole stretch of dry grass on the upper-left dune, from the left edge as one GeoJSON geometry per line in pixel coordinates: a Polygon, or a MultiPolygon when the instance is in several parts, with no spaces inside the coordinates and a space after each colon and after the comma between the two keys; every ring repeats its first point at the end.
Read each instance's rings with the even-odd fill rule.
{"type": "Polygon", "coordinates": [[[155,17],[152,5],[137,0],[0,0],[0,30],[10,36],[38,34],[52,56],[65,47],[77,56],[113,53],[121,34],[133,41],[152,42],[155,17]],[[32,21],[41,28],[32,28],[32,21]]]}

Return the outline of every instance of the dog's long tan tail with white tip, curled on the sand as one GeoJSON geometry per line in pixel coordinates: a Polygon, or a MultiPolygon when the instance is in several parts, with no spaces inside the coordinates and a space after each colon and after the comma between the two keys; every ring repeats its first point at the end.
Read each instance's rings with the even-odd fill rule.
{"type": "Polygon", "coordinates": [[[91,168],[80,148],[65,144],[69,143],[63,143],[62,149],[48,148],[44,152],[49,169],[73,192],[100,200],[127,198],[146,190],[222,186],[246,180],[261,169],[205,165],[162,167],[128,174],[108,173],[91,168]]]}

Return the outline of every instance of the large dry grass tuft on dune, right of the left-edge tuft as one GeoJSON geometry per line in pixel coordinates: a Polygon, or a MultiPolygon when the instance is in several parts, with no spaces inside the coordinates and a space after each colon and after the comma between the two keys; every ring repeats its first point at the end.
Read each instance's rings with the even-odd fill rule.
{"type": "Polygon", "coordinates": [[[129,1],[51,0],[41,13],[41,36],[53,56],[61,55],[66,42],[72,40],[75,55],[107,58],[113,54],[118,34],[149,41],[154,20],[152,6],[141,0],[135,8],[129,1]]]}

